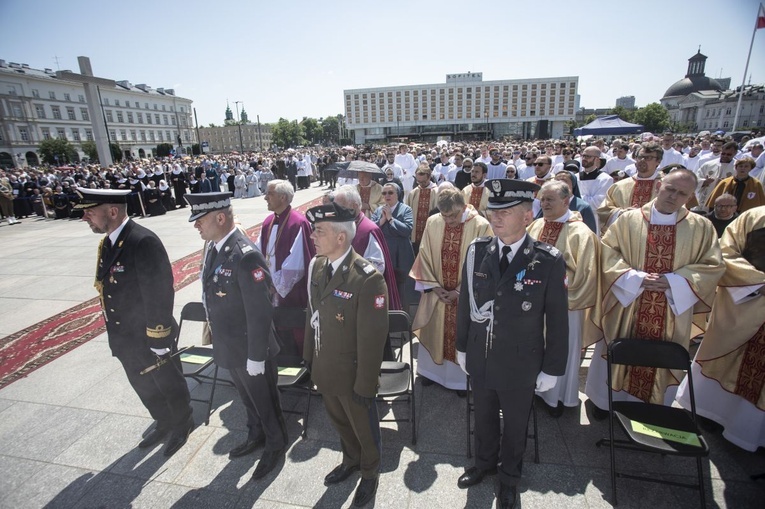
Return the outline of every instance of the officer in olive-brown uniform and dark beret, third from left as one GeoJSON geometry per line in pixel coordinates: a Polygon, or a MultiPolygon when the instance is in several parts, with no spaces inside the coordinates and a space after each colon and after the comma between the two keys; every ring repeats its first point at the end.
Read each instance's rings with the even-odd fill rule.
{"type": "Polygon", "coordinates": [[[351,247],[356,214],[330,203],[306,213],[317,256],[308,269],[303,357],[340,435],[343,462],[325,478],[344,481],[361,470],[353,504],[367,504],[380,476],[377,395],[388,337],[388,289],[375,267],[351,247]]]}

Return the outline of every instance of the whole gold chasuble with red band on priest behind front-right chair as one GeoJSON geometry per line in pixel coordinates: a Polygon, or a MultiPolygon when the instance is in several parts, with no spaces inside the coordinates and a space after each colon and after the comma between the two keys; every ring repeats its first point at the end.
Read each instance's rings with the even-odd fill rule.
{"type": "MultiPolygon", "coordinates": [[[[715,229],[707,219],[681,208],[675,225],[652,225],[653,201],[641,209],[625,211],[603,236],[600,305],[592,320],[607,343],[637,337],[673,341],[686,349],[694,313],[710,310],[717,281],[724,271],[715,229]],[[647,273],[673,273],[688,283],[694,306],[675,316],[664,292],[643,291],[623,306],[612,291],[614,283],[630,269],[647,273]]],[[[590,343],[592,342],[590,339],[590,343]]],[[[613,388],[652,403],[663,403],[667,386],[680,382],[681,374],[616,366],[613,388]]]]}

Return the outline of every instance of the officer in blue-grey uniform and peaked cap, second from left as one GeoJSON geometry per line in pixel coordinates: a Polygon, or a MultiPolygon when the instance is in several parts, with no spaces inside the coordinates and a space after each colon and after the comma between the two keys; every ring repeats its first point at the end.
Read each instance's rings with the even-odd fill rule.
{"type": "Polygon", "coordinates": [[[276,467],[287,447],[287,428],[277,388],[279,344],[272,327],[271,274],[263,255],[234,223],[231,193],[184,195],[199,235],[208,242],[202,269],[215,363],[231,373],[247,409],[244,442],[229,452],[263,455],[252,474],[260,479],[276,467]]]}

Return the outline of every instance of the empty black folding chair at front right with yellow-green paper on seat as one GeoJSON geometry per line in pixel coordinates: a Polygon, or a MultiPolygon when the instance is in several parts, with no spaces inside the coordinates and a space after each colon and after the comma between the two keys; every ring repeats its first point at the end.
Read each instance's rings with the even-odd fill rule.
{"type": "Polygon", "coordinates": [[[625,477],[641,481],[684,486],[699,490],[701,507],[706,507],[704,472],[701,458],[709,455],[709,446],[699,431],[696,418],[696,398],[693,394],[691,357],[688,351],[670,341],[645,339],[617,339],[608,346],[608,412],[609,438],[601,439],[597,446],[608,445],[611,453],[611,490],[616,505],[616,478],[625,477]],[[674,408],[642,401],[614,401],[611,370],[614,365],[643,366],[659,369],[682,370],[688,374],[690,413],[674,408]],[[628,440],[616,440],[614,422],[618,421],[628,440]],[[698,484],[669,481],[656,477],[631,475],[616,470],[616,449],[649,452],[654,454],[696,458],[698,484]]]}

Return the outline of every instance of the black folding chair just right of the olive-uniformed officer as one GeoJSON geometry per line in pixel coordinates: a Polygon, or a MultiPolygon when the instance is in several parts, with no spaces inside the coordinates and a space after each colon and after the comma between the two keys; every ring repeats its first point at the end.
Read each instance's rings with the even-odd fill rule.
{"type": "Polygon", "coordinates": [[[412,321],[406,311],[388,311],[388,336],[398,339],[399,354],[397,361],[383,361],[380,366],[380,388],[377,401],[407,403],[408,418],[381,418],[382,422],[410,422],[412,424],[412,445],[417,444],[417,424],[414,399],[414,369],[412,369],[412,321]],[[403,350],[408,345],[409,362],[403,362],[403,350]]]}

